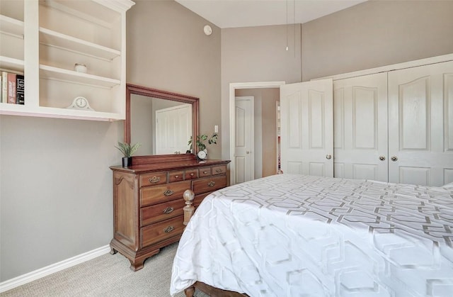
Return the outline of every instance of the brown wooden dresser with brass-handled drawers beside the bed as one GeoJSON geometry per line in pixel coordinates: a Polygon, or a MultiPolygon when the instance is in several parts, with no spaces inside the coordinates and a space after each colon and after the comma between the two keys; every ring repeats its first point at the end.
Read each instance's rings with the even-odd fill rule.
{"type": "Polygon", "coordinates": [[[183,225],[183,193],[195,193],[193,205],[227,185],[230,161],[198,162],[194,155],[132,157],[132,167],[113,170],[113,240],[110,254],[120,252],[130,269],[143,267],[161,247],[180,239],[183,225]]]}

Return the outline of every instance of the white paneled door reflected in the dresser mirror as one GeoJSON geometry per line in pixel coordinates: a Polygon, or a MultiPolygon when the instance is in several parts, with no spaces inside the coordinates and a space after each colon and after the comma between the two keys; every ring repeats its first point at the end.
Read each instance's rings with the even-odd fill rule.
{"type": "Polygon", "coordinates": [[[184,154],[191,135],[190,104],[156,111],[156,154],[184,154]]]}

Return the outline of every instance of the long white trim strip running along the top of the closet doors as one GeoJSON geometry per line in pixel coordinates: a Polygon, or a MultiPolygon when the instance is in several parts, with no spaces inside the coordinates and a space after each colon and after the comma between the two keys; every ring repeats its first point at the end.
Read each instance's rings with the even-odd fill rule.
{"type": "Polygon", "coordinates": [[[382,67],[377,67],[377,68],[365,69],[365,70],[360,70],[360,71],[355,71],[355,72],[336,74],[336,75],[332,75],[330,77],[320,77],[318,79],[311,79],[311,80],[315,81],[315,80],[319,80],[319,79],[333,79],[333,80],[349,79],[351,77],[362,77],[362,76],[368,75],[368,74],[389,72],[389,71],[394,71],[394,70],[399,70],[399,69],[406,69],[406,68],[412,68],[412,67],[419,67],[419,66],[423,66],[423,65],[448,62],[448,61],[452,61],[452,60],[453,60],[453,54],[448,54],[448,55],[442,55],[442,56],[437,56],[437,57],[428,57],[426,59],[414,60],[414,61],[410,61],[410,62],[398,63],[398,64],[394,64],[394,65],[387,65],[387,66],[382,66],[382,67]]]}

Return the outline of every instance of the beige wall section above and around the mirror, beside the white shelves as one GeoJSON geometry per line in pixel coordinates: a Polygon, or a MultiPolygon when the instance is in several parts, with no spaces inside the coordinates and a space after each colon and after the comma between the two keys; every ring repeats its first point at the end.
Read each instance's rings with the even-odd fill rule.
{"type": "Polygon", "coordinates": [[[208,158],[220,159],[219,28],[175,1],[135,2],[127,12],[127,82],[200,98],[200,133],[212,134],[214,125],[221,132],[208,158]]]}

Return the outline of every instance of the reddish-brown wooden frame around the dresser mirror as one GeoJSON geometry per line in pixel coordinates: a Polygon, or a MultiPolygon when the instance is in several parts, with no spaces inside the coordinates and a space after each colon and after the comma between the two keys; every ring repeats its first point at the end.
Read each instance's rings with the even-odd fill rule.
{"type": "MultiPolygon", "coordinates": [[[[125,119],[125,142],[130,143],[131,140],[131,115],[130,115],[130,96],[132,94],[142,95],[147,97],[167,99],[171,101],[178,101],[182,103],[189,103],[192,105],[192,138],[197,139],[200,133],[200,99],[193,96],[187,96],[169,91],[161,91],[158,89],[151,89],[147,86],[137,86],[135,84],[126,84],[126,119],[125,119]]],[[[193,150],[191,155],[195,155],[195,142],[192,143],[193,150]]],[[[176,155],[153,155],[153,156],[176,156],[176,155]]]]}

